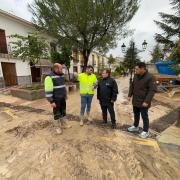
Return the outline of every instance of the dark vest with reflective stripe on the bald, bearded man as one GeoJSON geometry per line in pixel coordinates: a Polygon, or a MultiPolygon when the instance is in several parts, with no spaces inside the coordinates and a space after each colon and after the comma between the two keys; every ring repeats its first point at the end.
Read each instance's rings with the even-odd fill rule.
{"type": "Polygon", "coordinates": [[[56,98],[65,98],[66,97],[66,86],[64,74],[55,74],[51,72],[49,76],[53,81],[53,97],[56,98]]]}

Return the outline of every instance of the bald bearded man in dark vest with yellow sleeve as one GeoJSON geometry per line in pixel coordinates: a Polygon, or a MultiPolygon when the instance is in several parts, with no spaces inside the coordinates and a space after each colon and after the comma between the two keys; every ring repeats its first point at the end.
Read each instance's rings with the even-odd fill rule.
{"type": "Polygon", "coordinates": [[[70,128],[65,120],[67,92],[62,65],[55,63],[53,71],[44,81],[45,95],[53,108],[54,123],[57,134],[62,134],[62,128],[70,128]]]}

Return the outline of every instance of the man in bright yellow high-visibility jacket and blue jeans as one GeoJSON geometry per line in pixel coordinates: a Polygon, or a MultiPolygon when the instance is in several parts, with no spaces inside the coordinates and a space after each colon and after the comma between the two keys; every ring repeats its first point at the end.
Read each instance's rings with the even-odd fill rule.
{"type": "Polygon", "coordinates": [[[91,102],[94,95],[95,84],[97,82],[96,75],[93,73],[93,71],[94,68],[92,66],[87,66],[85,72],[78,75],[81,95],[80,126],[84,125],[85,111],[88,116],[88,121],[92,121],[92,118],[90,117],[91,102]]]}

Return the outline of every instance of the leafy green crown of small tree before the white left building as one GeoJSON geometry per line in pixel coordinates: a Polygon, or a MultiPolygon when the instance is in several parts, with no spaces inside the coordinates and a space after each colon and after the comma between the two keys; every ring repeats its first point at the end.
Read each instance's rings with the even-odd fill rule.
{"type": "Polygon", "coordinates": [[[46,40],[37,33],[29,33],[28,36],[19,34],[9,36],[13,39],[11,44],[11,55],[23,61],[36,64],[41,58],[48,58],[48,44],[46,40]]]}

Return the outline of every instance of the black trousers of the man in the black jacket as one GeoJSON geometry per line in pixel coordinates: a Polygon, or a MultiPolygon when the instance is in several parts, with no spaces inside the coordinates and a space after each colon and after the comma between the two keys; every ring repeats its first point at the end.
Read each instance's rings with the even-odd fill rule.
{"type": "Polygon", "coordinates": [[[114,103],[100,103],[101,109],[102,109],[102,116],[103,120],[107,121],[107,111],[109,111],[110,117],[111,117],[111,122],[112,124],[116,123],[115,119],[115,112],[114,112],[114,103]]]}

